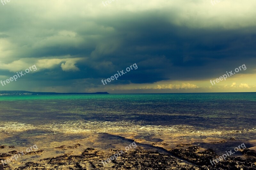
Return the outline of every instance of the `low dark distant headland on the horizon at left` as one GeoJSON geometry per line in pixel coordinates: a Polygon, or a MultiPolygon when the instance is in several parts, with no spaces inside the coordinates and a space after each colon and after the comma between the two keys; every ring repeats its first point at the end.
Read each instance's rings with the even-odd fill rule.
{"type": "Polygon", "coordinates": [[[109,93],[108,92],[56,93],[56,92],[29,92],[29,91],[0,91],[0,95],[60,95],[60,94],[109,94],[109,93]]]}

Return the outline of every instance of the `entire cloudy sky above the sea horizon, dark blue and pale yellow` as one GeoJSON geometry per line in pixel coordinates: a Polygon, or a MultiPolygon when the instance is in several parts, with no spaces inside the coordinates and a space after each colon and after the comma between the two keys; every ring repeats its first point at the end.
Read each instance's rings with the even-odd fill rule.
{"type": "Polygon", "coordinates": [[[255,8],[255,0],[3,1],[0,91],[256,92],[255,8]]]}

